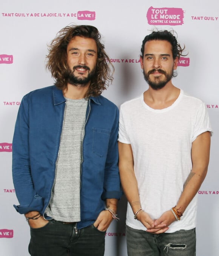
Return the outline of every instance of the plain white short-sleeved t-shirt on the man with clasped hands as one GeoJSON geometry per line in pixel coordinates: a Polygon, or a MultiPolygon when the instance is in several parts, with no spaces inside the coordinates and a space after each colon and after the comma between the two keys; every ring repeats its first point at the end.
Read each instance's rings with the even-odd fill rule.
{"type": "MultiPolygon", "coordinates": [[[[192,168],[192,142],[206,131],[211,125],[204,103],[182,90],[173,105],[161,110],[145,104],[143,94],[120,106],[118,140],[131,144],[140,203],[152,219],[176,205],[192,168]]],[[[196,213],[197,195],[166,232],[194,228],[196,213]]],[[[145,230],[129,204],[126,224],[145,230]]]]}

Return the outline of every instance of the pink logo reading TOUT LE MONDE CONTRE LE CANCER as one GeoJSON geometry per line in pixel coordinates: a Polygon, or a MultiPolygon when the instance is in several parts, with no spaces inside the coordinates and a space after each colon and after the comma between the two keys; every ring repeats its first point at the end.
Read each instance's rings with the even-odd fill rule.
{"type": "Polygon", "coordinates": [[[182,8],[154,8],[150,7],[147,12],[149,25],[182,25],[184,11],[182,8]]]}

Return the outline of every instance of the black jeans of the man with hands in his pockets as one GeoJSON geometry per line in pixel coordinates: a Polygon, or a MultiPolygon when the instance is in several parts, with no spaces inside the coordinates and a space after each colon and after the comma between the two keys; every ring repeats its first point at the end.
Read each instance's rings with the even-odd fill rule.
{"type": "Polygon", "coordinates": [[[50,220],[42,228],[31,228],[31,256],[103,256],[105,233],[94,225],[75,230],[75,223],[50,220]]]}

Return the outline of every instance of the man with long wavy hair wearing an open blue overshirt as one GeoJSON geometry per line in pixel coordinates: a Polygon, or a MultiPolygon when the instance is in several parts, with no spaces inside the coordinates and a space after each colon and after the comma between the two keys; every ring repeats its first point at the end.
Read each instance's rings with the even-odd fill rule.
{"type": "Polygon", "coordinates": [[[49,45],[55,85],[22,99],[12,173],[32,256],[103,256],[121,196],[118,109],[101,96],[114,68],[97,28],[70,25],[49,45]]]}

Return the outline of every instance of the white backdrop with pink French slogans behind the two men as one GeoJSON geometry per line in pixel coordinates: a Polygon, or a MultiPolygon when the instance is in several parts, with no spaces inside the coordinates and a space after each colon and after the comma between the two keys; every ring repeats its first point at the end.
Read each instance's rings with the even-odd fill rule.
{"type": "MultiPolygon", "coordinates": [[[[188,55],[173,84],[202,99],[214,135],[207,177],[200,188],[197,256],[219,255],[219,4],[215,0],[8,0],[0,3],[0,255],[28,256],[29,227],[18,214],[11,175],[11,143],[20,101],[26,93],[53,84],[45,70],[47,46],[66,25],[96,26],[115,67],[114,81],[103,93],[119,107],[147,89],[140,69],[142,40],[154,27],[174,29],[188,55]]],[[[106,233],[105,256],[126,256],[126,200],[119,202],[120,222],[106,233]]]]}

